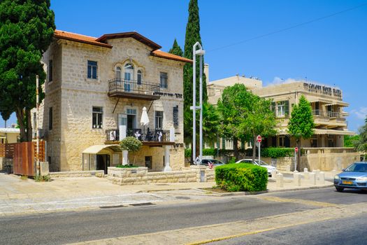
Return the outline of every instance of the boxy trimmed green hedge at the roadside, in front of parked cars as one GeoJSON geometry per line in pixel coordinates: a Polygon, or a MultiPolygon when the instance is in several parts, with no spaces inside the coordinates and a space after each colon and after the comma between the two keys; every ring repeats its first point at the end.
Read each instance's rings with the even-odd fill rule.
{"type": "Polygon", "coordinates": [[[261,191],[268,185],[268,170],[248,163],[215,168],[217,186],[227,191],[261,191]]]}

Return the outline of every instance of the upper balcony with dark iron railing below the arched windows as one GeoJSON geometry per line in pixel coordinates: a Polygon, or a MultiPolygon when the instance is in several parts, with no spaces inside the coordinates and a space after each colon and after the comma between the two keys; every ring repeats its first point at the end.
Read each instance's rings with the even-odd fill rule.
{"type": "Polygon", "coordinates": [[[158,83],[138,82],[114,78],[108,80],[108,97],[154,100],[159,99],[157,94],[161,87],[158,83]]]}

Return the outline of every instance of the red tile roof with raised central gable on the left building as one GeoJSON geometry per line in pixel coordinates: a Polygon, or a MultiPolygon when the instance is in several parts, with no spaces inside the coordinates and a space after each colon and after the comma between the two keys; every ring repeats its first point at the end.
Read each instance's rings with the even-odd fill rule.
{"type": "Polygon", "coordinates": [[[179,62],[192,63],[191,59],[187,59],[185,57],[180,57],[178,55],[173,55],[169,52],[164,52],[164,51],[159,50],[158,48],[161,48],[161,46],[159,46],[157,43],[154,43],[153,41],[150,41],[148,38],[145,38],[145,36],[138,34],[136,31],[124,32],[124,33],[119,33],[119,34],[104,34],[103,36],[99,38],[95,38],[93,36],[85,36],[85,35],[75,34],[75,33],[68,32],[68,31],[55,30],[55,38],[61,38],[61,39],[76,41],[80,43],[87,43],[87,44],[97,45],[97,46],[106,47],[106,48],[113,48],[113,45],[110,45],[108,43],[103,43],[103,41],[106,41],[107,39],[110,39],[110,38],[127,38],[127,37],[135,38],[137,41],[140,41],[141,43],[144,43],[145,45],[152,48],[153,51],[151,52],[151,55],[154,57],[159,57],[163,59],[172,59],[172,60],[179,61],[179,62]]]}

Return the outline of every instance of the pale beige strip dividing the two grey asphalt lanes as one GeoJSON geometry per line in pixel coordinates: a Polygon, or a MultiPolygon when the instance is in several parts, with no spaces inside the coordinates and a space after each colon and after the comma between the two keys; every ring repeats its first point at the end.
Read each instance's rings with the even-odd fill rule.
{"type": "Polygon", "coordinates": [[[361,215],[366,212],[366,202],[362,202],[359,204],[338,205],[338,207],[309,209],[246,221],[203,225],[94,241],[82,241],[76,244],[207,244],[213,241],[254,235],[296,225],[361,215]]]}

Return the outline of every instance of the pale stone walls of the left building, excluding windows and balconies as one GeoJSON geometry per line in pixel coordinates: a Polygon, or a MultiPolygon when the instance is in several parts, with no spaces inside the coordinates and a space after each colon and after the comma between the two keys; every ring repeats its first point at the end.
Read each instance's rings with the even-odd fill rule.
{"type": "MultiPolygon", "coordinates": [[[[41,127],[48,142],[47,160],[50,162],[50,171],[82,170],[82,152],[89,146],[106,144],[106,131],[118,129],[119,114],[126,114],[127,109],[135,109],[136,128],[141,128],[139,122],[144,106],[148,109],[150,119],[145,128],[155,129],[155,111],[164,113],[162,127],[164,130],[175,126],[175,147],[169,146],[171,167],[173,170],[183,167],[183,97],[180,94],[183,94],[185,62],[154,56],[152,55],[154,50],[150,45],[134,37],[108,39],[106,43],[112,47],[108,48],[85,43],[84,36],[73,35],[81,41],[55,38],[43,55],[45,71],[50,73],[50,60],[53,66],[52,80],[49,80],[48,76],[44,86],[45,99],[40,107],[41,127]],[[97,62],[96,79],[87,78],[88,61],[97,62]],[[160,90],[166,94],[153,101],[109,97],[108,80],[115,78],[117,67],[122,68],[124,76],[126,64],[134,66],[132,74],[134,80],[137,71],[142,72],[143,82],[159,85],[160,73],[167,73],[168,86],[161,87],[160,90]],[[103,110],[102,128],[92,127],[93,106],[103,110]],[[174,107],[178,108],[178,125],[173,125],[174,107]],[[49,125],[50,115],[52,115],[52,127],[49,125]]],[[[111,166],[113,154],[120,155],[121,164],[121,152],[109,151],[107,154],[110,155],[111,166]]],[[[145,156],[152,156],[152,170],[163,169],[164,147],[143,146],[136,154],[137,165],[145,165],[145,156]]]]}

